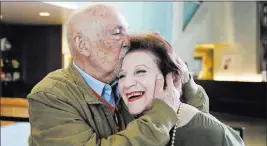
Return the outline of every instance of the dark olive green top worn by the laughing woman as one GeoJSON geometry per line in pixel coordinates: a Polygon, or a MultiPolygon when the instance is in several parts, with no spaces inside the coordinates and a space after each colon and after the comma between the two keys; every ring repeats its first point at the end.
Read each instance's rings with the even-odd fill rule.
{"type": "Polygon", "coordinates": [[[197,113],[186,125],[177,128],[175,135],[175,146],[244,146],[242,138],[234,129],[203,112],[197,113]]]}

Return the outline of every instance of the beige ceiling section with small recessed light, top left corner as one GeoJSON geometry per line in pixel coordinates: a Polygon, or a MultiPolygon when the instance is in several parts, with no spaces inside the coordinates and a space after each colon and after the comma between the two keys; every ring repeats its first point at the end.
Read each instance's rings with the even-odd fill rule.
{"type": "Polygon", "coordinates": [[[1,2],[3,22],[20,24],[63,24],[73,11],[43,2],[1,2]],[[49,17],[40,17],[40,12],[49,12],[49,17]]]}

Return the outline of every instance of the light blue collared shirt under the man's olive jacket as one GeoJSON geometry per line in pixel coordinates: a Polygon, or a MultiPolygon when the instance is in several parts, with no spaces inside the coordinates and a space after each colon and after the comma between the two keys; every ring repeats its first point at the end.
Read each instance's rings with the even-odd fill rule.
{"type": "Polygon", "coordinates": [[[116,95],[119,97],[119,90],[118,90],[118,82],[115,81],[111,85],[105,84],[94,77],[90,76],[86,72],[84,72],[82,69],[80,69],[74,62],[73,65],[77,68],[79,73],[82,75],[83,79],[87,83],[88,86],[90,86],[99,96],[104,98],[105,101],[107,101],[109,104],[111,104],[113,107],[115,107],[115,99],[111,94],[111,87],[115,86],[116,88],[116,95]],[[111,87],[110,87],[111,86],[111,87]]]}

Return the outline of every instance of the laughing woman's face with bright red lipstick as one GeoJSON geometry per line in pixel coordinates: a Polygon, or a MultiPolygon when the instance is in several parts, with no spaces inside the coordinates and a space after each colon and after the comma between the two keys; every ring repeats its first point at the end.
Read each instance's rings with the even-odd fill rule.
{"type": "Polygon", "coordinates": [[[120,94],[131,114],[152,107],[156,75],[160,73],[157,58],[148,51],[128,53],[119,72],[120,94]]]}

